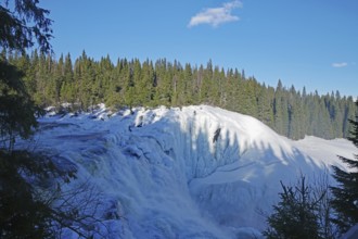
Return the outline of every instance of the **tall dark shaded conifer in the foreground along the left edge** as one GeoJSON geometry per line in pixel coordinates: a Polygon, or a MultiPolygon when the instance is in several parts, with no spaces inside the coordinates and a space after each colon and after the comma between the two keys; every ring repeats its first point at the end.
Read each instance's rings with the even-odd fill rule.
{"type": "MultiPolygon", "coordinates": [[[[39,8],[37,0],[4,2],[0,2],[0,48],[24,53],[37,40],[43,68],[51,70],[52,61],[43,54],[50,50],[49,12],[39,8]]],[[[42,111],[26,90],[24,72],[11,62],[4,54],[0,55],[0,238],[55,238],[54,230],[63,227],[86,238],[85,231],[77,230],[72,223],[86,225],[94,214],[79,212],[80,203],[67,204],[76,193],[66,197],[61,192],[61,184],[74,178],[76,169],[60,169],[46,155],[14,148],[15,139],[28,139],[33,135],[36,114],[42,111]],[[56,207],[56,204],[65,206],[56,207]]],[[[46,90],[47,83],[40,83],[46,90]]],[[[46,91],[41,93],[46,99],[46,91]]],[[[86,226],[88,229],[85,226],[80,229],[93,229],[93,225],[86,226]]]]}

